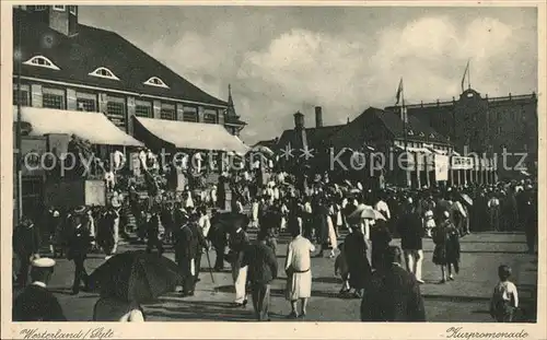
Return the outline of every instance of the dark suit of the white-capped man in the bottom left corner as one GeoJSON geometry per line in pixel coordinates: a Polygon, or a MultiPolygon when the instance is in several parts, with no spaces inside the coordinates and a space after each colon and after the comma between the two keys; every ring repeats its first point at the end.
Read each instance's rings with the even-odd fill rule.
{"type": "Polygon", "coordinates": [[[57,297],[47,289],[31,284],[15,298],[13,321],[66,321],[57,297]]]}

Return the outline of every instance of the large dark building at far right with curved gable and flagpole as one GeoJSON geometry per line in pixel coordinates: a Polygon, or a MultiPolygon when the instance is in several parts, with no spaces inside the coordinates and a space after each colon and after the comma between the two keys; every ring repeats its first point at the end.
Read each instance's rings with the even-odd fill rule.
{"type": "MultiPolygon", "coordinates": [[[[400,113],[400,107],[386,109],[400,113]]],[[[510,153],[527,153],[525,165],[534,171],[538,149],[535,93],[489,97],[468,89],[457,99],[411,104],[406,109],[410,117],[446,136],[458,152],[500,155],[507,149],[510,153]]],[[[515,165],[519,159],[508,157],[508,165],[515,165]]]]}

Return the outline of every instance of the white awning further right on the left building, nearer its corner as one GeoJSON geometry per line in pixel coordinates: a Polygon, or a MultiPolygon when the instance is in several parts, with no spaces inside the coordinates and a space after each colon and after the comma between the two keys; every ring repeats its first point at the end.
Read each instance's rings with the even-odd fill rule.
{"type": "MultiPolygon", "coordinates": [[[[233,151],[245,154],[248,146],[237,137],[230,134],[223,126],[217,124],[189,122],[135,117],[136,136],[153,134],[164,143],[176,149],[233,151]]],[[[147,136],[142,136],[147,138],[147,136]]]]}

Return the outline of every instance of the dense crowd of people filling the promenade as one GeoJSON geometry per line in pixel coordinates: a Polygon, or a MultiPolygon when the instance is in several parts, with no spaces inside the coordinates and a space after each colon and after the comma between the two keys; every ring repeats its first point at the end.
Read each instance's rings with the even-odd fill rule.
{"type": "MultiPolygon", "coordinates": [[[[119,253],[120,241],[132,236],[146,243],[149,253],[162,255],[173,249],[184,273],[177,289],[183,296],[194,295],[201,257],[214,249],[212,270],[223,270],[225,262],[231,266],[234,307],[246,306],[251,289],[257,319],[269,320],[270,284],[279,271],[277,243],[287,233],[292,237],[284,266],[290,318],[306,315],[312,257],[328,256],[336,257],[340,294],[362,298],[363,320],[418,321],[426,318],[419,293],[423,237],[435,245],[431,260],[440,268],[440,283],[455,280],[461,267],[459,239],[474,232],[522,230],[528,250],[536,251],[537,184],[531,180],[369,189],[359,181],[335,183],[323,174],[305,186],[301,183],[282,171],[264,177],[261,172],[244,169],[222,174],[214,185],[186,187],[179,195],[154,190],[143,200],[129,181],[127,192],[116,191],[119,186],[113,188],[106,207],[50,207],[40,218],[24,219],[15,228],[15,282],[27,286],[30,268],[47,267],[39,261],[45,236],[51,258],[67,257],[74,262],[72,293],[90,290],[84,265],[88,254],[103,253],[108,260],[119,253]],[[229,201],[231,211],[224,211],[229,201]],[[256,241],[248,234],[253,228],[257,230],[256,241]],[[396,237],[401,239],[400,249],[392,246],[396,237]],[[388,302],[379,301],[374,292],[392,281],[393,290],[404,292],[398,298],[408,300],[404,304],[408,310],[387,313],[389,307],[379,306],[388,302]]],[[[509,269],[503,270],[500,279],[509,282],[509,269]]],[[[503,288],[503,292],[515,291],[509,283],[500,283],[499,290],[503,288]]],[[[131,310],[136,308],[141,310],[139,306],[131,310]]]]}

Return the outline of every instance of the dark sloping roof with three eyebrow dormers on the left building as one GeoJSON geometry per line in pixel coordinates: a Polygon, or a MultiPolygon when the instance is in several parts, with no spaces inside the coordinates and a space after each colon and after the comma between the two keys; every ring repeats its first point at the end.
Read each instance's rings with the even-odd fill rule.
{"type": "Polygon", "coordinates": [[[117,33],[80,24],[78,34],[68,37],[49,28],[47,23],[36,20],[32,13],[19,9],[13,13],[14,46],[19,45],[21,38],[22,60],[44,56],[60,69],[23,65],[22,75],[222,107],[228,105],[198,89],[117,33]],[[18,24],[20,20],[21,25],[18,24]],[[19,30],[15,30],[18,26],[21,27],[21,36],[19,30]],[[100,67],[107,68],[119,80],[89,75],[100,67]],[[160,78],[168,89],[143,84],[152,77],[160,78]]]}

